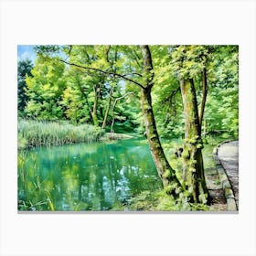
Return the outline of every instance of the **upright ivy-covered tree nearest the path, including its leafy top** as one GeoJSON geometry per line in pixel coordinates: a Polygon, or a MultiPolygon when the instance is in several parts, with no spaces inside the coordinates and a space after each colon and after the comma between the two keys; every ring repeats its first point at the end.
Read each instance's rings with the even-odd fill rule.
{"type": "Polygon", "coordinates": [[[208,48],[179,46],[172,53],[174,70],[180,82],[185,115],[185,144],[183,150],[183,181],[193,202],[208,201],[204,176],[201,124],[207,97],[206,56],[208,48]],[[205,58],[205,59],[204,59],[205,58]],[[200,114],[197,109],[197,92],[194,80],[203,74],[203,95],[200,114]]]}

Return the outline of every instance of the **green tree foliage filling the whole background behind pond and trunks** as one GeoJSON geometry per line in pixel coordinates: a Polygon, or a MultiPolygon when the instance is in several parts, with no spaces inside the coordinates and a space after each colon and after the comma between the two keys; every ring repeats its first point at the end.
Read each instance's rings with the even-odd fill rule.
{"type": "MultiPolygon", "coordinates": [[[[112,98],[110,110],[106,113],[106,128],[110,131],[113,101],[126,92],[133,92],[133,97],[118,102],[115,108],[114,131],[129,133],[136,130],[144,133],[140,88],[134,86],[133,82],[114,75],[119,73],[131,80],[143,82],[142,54],[138,46],[35,48],[37,60],[31,71],[32,77],[27,77],[26,87],[22,86],[27,89],[18,92],[20,99],[27,99],[26,106],[26,101],[20,101],[25,107],[25,112],[20,109],[23,115],[38,120],[67,119],[71,123],[91,124],[97,118],[96,123],[101,126],[109,99],[112,98]],[[66,65],[60,61],[64,56],[69,63],[91,69],[66,65]]],[[[201,73],[206,68],[208,99],[204,114],[204,135],[220,131],[226,137],[238,137],[237,46],[151,46],[151,51],[155,71],[152,97],[160,136],[183,136],[183,102],[178,77],[194,79],[200,107],[201,73]]]]}

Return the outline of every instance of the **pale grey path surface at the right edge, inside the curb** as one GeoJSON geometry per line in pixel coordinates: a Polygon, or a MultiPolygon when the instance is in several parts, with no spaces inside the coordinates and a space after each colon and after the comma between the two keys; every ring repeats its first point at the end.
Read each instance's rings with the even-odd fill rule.
{"type": "Polygon", "coordinates": [[[220,164],[223,166],[239,208],[239,142],[221,144],[218,149],[220,164]]]}

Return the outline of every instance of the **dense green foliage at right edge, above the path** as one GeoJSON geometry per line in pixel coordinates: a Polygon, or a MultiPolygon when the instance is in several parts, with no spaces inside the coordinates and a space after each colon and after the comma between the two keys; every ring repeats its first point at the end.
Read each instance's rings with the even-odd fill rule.
{"type": "Polygon", "coordinates": [[[239,48],[214,46],[208,63],[208,106],[205,117],[208,133],[223,138],[239,136],[239,48]]]}

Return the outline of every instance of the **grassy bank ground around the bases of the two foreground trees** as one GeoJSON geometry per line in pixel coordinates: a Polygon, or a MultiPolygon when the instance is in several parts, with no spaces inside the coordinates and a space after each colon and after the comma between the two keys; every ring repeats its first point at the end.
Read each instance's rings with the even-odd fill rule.
{"type": "MultiPolygon", "coordinates": [[[[227,201],[224,196],[224,191],[221,186],[219,173],[217,172],[215,161],[212,155],[213,148],[217,146],[221,137],[215,138],[211,141],[211,144],[204,144],[203,156],[205,164],[205,177],[208,187],[208,193],[210,197],[210,205],[192,204],[187,202],[186,198],[174,198],[166,195],[164,190],[148,191],[145,190],[140,194],[124,200],[116,208],[112,210],[120,211],[227,211],[227,201]]],[[[177,143],[177,141],[176,141],[177,143]]],[[[174,149],[173,149],[174,150],[174,149]]],[[[169,151],[169,155],[173,154],[169,151]]],[[[182,159],[174,159],[169,157],[171,165],[176,166],[176,171],[179,172],[179,167],[182,166],[182,159]],[[180,166],[179,166],[180,165],[180,166]]],[[[177,174],[178,176],[180,174],[177,174]]]]}

